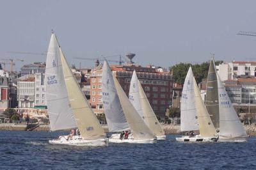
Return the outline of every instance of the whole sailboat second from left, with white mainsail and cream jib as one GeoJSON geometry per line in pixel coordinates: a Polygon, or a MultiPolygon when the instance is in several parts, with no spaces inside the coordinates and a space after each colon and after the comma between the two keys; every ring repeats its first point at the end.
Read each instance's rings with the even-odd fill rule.
{"type": "Polygon", "coordinates": [[[116,77],[113,76],[107,61],[104,61],[102,72],[102,96],[108,127],[115,127],[110,128],[112,132],[129,128],[132,134],[128,139],[120,139],[120,135],[114,134],[109,137],[109,142],[155,143],[156,137],[129,101],[116,77]],[[113,112],[109,114],[110,111],[113,112]]]}

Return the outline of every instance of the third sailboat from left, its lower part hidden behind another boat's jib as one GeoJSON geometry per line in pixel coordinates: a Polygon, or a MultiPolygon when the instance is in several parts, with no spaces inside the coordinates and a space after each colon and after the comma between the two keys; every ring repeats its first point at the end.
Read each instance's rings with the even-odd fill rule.
{"type": "Polygon", "coordinates": [[[165,140],[166,135],[164,135],[164,131],[156,118],[156,114],[148,102],[147,96],[143,91],[135,70],[132,73],[129,100],[136,111],[140,114],[141,118],[145,121],[148,128],[150,128],[154,135],[156,135],[157,140],[165,140]]]}

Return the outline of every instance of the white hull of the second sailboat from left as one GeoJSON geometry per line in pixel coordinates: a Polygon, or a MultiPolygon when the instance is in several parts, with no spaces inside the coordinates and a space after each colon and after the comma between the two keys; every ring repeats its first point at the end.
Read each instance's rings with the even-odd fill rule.
{"type": "Polygon", "coordinates": [[[120,134],[113,134],[109,137],[109,143],[156,143],[156,138],[153,139],[134,139],[130,134],[128,139],[120,139],[120,134]]]}

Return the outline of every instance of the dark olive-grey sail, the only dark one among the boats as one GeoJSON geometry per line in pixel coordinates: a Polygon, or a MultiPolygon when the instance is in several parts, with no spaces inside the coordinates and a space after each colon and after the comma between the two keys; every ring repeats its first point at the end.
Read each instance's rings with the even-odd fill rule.
{"type": "Polygon", "coordinates": [[[205,106],[207,111],[209,112],[214,127],[220,128],[218,82],[214,59],[211,60],[207,77],[205,106]]]}

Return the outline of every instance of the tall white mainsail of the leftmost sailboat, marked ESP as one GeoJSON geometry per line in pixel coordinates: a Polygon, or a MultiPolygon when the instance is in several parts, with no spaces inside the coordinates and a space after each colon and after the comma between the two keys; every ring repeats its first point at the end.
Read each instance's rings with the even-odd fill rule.
{"type": "Polygon", "coordinates": [[[61,66],[59,44],[54,33],[51,35],[46,58],[45,84],[47,109],[51,130],[77,127],[68,95],[61,66]]]}

